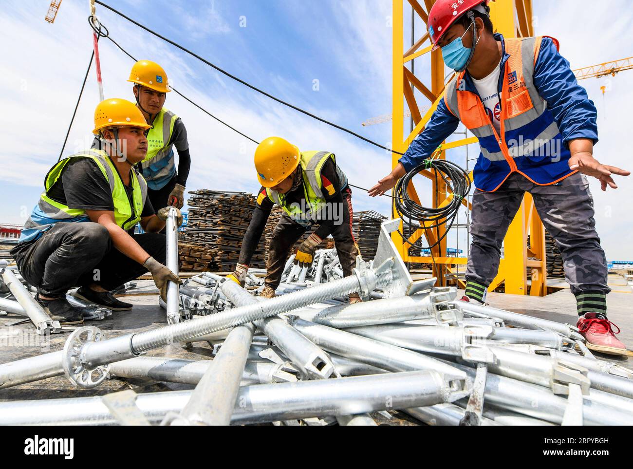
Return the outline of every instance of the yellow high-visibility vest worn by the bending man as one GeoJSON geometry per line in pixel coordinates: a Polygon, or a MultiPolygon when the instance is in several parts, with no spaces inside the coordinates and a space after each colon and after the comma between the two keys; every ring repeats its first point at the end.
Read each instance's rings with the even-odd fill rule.
{"type": "MultiPolygon", "coordinates": [[[[336,161],[334,153],[329,153],[328,151],[301,152],[299,165],[301,165],[303,181],[304,183],[307,182],[307,184],[303,184],[303,194],[306,204],[308,204],[309,207],[308,213],[305,213],[298,204],[287,204],[284,194],[279,194],[277,191],[266,188],[268,199],[284,209],[285,213],[300,225],[310,225],[313,216],[318,213],[318,211],[322,209],[323,204],[325,204],[325,199],[321,191],[323,187],[321,170],[328,158],[332,158],[332,161],[336,161]]],[[[348,178],[338,165],[336,165],[336,173],[339,177],[341,187],[325,188],[328,191],[332,191],[332,194],[334,194],[335,190],[341,191],[341,189],[344,189],[348,185],[348,178]]]]}

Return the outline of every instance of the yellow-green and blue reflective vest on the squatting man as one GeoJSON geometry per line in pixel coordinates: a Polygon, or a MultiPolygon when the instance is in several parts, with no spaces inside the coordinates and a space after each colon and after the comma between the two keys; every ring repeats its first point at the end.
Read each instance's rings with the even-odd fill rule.
{"type": "Polygon", "coordinates": [[[112,201],[115,208],[115,222],[124,230],[129,230],[141,220],[143,204],[147,196],[147,184],[143,177],[132,170],[130,182],[132,184],[132,204],[128,199],[127,191],[116,166],[112,163],[103,150],[91,149],[83,153],[73,154],[64,158],[54,165],[46,174],[44,180],[44,192],[40,196],[39,203],[33,209],[31,216],[28,217],[24,224],[24,229],[20,235],[20,242],[32,241],[39,238],[46,230],[49,230],[58,222],[89,222],[90,218],[85,215],[84,209],[68,208],[68,205],[62,204],[49,197],[48,192],[51,187],[61,178],[63,172],[70,163],[77,158],[91,158],[103,173],[110,185],[112,192],[112,201]]]}

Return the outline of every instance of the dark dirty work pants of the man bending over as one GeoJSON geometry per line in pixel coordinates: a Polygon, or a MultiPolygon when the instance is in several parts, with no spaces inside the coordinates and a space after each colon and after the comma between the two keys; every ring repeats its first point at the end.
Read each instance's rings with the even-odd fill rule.
{"type": "MultiPolygon", "coordinates": [[[[360,255],[358,246],[352,233],[352,191],[346,188],[342,191],[343,209],[342,223],[334,225],[332,237],[339,254],[339,261],[343,269],[343,275],[352,275],[352,269],[356,266],[356,256],[360,255]]],[[[290,255],[292,246],[298,241],[308,228],[299,225],[288,215],[282,215],[279,223],[273,230],[270,246],[268,247],[268,263],[266,264],[266,278],[264,283],[276,290],[279,287],[281,276],[284,273],[285,261],[290,255]]]]}

